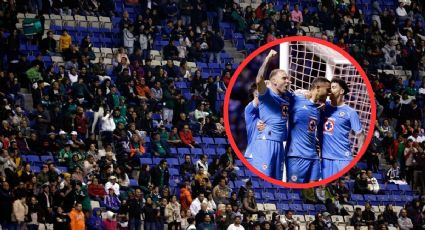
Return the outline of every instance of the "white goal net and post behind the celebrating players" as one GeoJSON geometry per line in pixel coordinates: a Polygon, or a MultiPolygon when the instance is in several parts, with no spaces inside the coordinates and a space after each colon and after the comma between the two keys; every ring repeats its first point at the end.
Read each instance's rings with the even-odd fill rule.
{"type": "MultiPolygon", "coordinates": [[[[359,71],[348,59],[327,46],[313,42],[286,42],[280,44],[279,49],[279,68],[286,70],[291,76],[292,90],[309,89],[316,77],[326,77],[329,80],[339,77],[345,80],[350,88],[345,102],[357,111],[363,130],[368,133],[370,97],[359,71]]],[[[350,139],[353,154],[357,154],[357,138],[351,135],[350,139]]]]}

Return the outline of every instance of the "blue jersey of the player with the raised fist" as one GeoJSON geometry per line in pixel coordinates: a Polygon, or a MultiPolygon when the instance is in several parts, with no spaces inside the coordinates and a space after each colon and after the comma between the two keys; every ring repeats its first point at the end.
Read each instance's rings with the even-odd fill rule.
{"type": "Polygon", "coordinates": [[[260,120],[266,123],[263,131],[258,132],[256,139],[271,141],[286,141],[288,137],[289,95],[279,96],[267,88],[263,95],[258,97],[260,104],[260,120]]]}

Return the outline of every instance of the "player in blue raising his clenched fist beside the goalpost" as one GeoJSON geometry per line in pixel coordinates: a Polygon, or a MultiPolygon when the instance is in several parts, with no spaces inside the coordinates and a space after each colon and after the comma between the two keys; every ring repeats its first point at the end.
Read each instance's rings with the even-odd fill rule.
{"type": "Polygon", "coordinates": [[[252,151],[252,158],[248,161],[265,175],[280,180],[289,108],[289,97],[285,95],[291,82],[284,70],[275,69],[269,76],[270,87],[266,86],[265,70],[270,59],[276,54],[274,50],[269,52],[257,74],[259,119],[267,126],[258,132],[255,140],[248,146],[248,149],[252,151]]]}

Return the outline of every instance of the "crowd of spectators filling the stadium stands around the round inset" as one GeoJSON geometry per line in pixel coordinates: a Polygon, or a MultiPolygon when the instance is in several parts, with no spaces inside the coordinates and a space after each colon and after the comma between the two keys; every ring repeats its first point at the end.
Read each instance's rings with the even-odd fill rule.
{"type": "MultiPolygon", "coordinates": [[[[384,7],[383,1],[372,2],[362,7],[354,0],[270,1],[242,8],[224,0],[146,1],[137,5],[137,18],[127,11],[118,14],[115,2],[107,0],[1,2],[2,228],[300,229],[292,210],[278,210],[285,214],[266,220],[252,187],[256,178],[231,188],[230,183],[245,178],[238,176],[230,147],[213,161],[206,154],[197,160],[171,151],[203,147],[197,136],[225,137],[216,102],[234,72],[231,63],[207,78],[203,69],[188,67],[188,62],[224,63],[221,22],[233,23],[254,45],[307,35],[304,27],[318,27],[320,37],[348,51],[373,82],[378,122],[365,156],[367,171],[352,170],[351,190],[345,178],[303,190],[306,203],[326,206],[308,229],[335,229],[330,215],[348,215],[344,205],[352,204],[351,194],[379,194],[373,173],[383,173],[384,164],[391,164],[383,173],[386,183],[416,188],[421,182],[424,190],[423,3],[384,7]],[[122,46],[115,47],[111,67],[96,58],[88,34],[76,41],[64,30],[56,43],[58,31],[48,30],[43,39],[28,39],[39,44],[30,62],[20,50],[26,40],[15,27],[18,12],[120,16],[116,39],[122,46]],[[158,40],[168,41],[161,47],[163,66],[152,65],[149,55],[158,40]],[[43,55],[60,55],[64,63],[47,65],[43,55]],[[410,74],[402,78],[382,69],[410,74]],[[189,97],[177,87],[181,82],[189,97]],[[32,103],[21,88],[31,93],[32,103]],[[44,158],[33,162],[29,155],[44,158]],[[141,163],[151,157],[160,158],[153,167],[141,163]],[[177,175],[171,172],[171,158],[184,159],[177,175]],[[100,209],[92,207],[97,204],[100,209]]],[[[423,200],[414,201],[398,215],[388,205],[375,219],[366,204],[365,210],[355,210],[350,225],[420,229],[423,206],[423,200]]]]}

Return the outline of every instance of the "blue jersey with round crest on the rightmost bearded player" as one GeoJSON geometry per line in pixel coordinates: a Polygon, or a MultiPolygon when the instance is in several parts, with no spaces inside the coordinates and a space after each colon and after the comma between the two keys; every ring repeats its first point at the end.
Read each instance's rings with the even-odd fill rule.
{"type": "Polygon", "coordinates": [[[353,154],[350,131],[361,133],[362,123],[357,112],[348,105],[334,107],[326,104],[323,125],[322,157],[332,160],[351,160],[353,154]]]}

